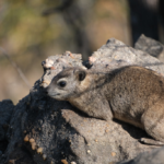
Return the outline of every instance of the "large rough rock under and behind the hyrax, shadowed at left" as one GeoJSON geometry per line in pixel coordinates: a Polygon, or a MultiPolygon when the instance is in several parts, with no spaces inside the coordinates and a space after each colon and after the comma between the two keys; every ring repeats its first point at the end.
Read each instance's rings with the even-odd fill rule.
{"type": "MultiPolygon", "coordinates": [[[[89,61],[91,69],[97,71],[140,65],[164,74],[164,65],[156,58],[114,38],[89,61]]],[[[14,107],[7,133],[9,144],[0,155],[0,163],[109,164],[131,160],[156,148],[138,141],[142,137],[149,138],[139,128],[118,120],[107,122],[89,118],[68,102],[55,101],[44,94],[43,89],[52,77],[74,66],[84,68],[81,55],[66,52],[43,61],[43,77],[14,107]]]]}

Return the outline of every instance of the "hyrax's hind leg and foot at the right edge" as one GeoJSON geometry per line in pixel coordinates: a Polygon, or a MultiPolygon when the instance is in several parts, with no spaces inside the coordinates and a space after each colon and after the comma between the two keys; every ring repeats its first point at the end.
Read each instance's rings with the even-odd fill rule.
{"type": "Polygon", "coordinates": [[[153,139],[141,139],[141,142],[164,145],[164,101],[156,102],[141,118],[144,129],[153,139]]]}

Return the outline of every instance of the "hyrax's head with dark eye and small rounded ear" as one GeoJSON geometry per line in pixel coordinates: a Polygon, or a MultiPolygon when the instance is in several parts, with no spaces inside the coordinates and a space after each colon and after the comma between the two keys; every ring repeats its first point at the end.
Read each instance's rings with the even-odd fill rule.
{"type": "Polygon", "coordinates": [[[81,68],[67,68],[56,75],[48,87],[47,94],[58,101],[67,101],[78,94],[86,71],[81,68]]]}

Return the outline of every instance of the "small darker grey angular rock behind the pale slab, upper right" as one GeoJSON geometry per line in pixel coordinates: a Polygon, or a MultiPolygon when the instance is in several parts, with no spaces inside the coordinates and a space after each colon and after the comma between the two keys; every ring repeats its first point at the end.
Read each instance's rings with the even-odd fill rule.
{"type": "Polygon", "coordinates": [[[155,39],[147,37],[142,34],[134,44],[134,48],[145,51],[164,62],[164,46],[155,39]]]}

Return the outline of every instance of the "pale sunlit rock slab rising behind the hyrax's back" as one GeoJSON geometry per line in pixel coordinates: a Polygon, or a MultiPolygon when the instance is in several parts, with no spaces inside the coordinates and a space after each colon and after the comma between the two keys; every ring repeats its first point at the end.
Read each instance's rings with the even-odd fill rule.
{"type": "Polygon", "coordinates": [[[93,70],[108,71],[122,66],[138,65],[164,74],[164,63],[145,51],[133,49],[110,38],[89,58],[93,70]]]}

